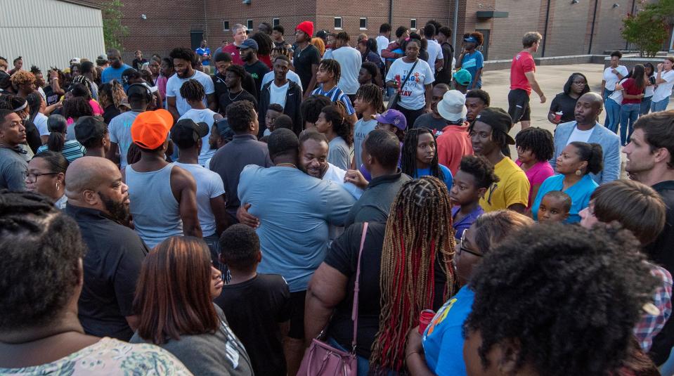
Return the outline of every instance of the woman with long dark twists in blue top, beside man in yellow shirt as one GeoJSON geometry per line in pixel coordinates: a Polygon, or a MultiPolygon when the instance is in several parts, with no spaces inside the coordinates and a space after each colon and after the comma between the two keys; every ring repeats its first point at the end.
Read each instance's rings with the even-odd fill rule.
{"type": "Polygon", "coordinates": [[[400,168],[412,179],[434,176],[444,181],[447,190],[452,188],[452,171],[438,163],[437,143],[428,128],[410,129],[403,141],[400,168]]]}

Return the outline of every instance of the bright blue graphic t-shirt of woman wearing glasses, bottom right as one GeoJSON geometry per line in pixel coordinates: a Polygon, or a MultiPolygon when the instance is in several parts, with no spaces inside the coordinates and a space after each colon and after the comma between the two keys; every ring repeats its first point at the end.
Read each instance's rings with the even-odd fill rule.
{"type": "Polygon", "coordinates": [[[436,375],[466,375],[463,361],[463,323],[470,313],[475,293],[461,287],[435,314],[422,337],[426,364],[436,375]]]}

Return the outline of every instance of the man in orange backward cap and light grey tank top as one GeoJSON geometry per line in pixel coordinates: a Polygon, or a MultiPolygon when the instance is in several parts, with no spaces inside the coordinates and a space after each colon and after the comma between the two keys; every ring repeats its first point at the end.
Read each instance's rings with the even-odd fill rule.
{"type": "Polygon", "coordinates": [[[167,110],[141,112],[131,124],[131,139],[141,150],[141,160],[129,164],[123,177],[134,227],[150,248],[171,236],[202,237],[197,183],[188,171],[166,161],[172,125],[167,110]]]}

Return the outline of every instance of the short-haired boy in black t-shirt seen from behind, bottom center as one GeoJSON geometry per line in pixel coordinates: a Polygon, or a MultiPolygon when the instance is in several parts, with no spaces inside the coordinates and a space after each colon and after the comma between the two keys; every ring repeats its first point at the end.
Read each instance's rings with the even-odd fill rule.
{"type": "Polygon", "coordinates": [[[220,262],[226,264],[231,280],[215,304],[247,350],[255,374],[285,375],[281,339],[290,325],[287,283],[278,274],[257,273],[262,254],[252,227],[230,226],[223,231],[220,246],[220,262]]]}

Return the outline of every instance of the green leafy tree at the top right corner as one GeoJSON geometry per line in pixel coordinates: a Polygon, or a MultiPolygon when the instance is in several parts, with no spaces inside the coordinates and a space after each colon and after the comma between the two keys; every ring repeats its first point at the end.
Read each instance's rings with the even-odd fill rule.
{"type": "Polygon", "coordinates": [[[674,20],[674,0],[659,0],[650,4],[642,0],[639,3],[642,9],[623,19],[621,35],[639,50],[640,56],[653,57],[668,37],[669,27],[674,20]]]}

